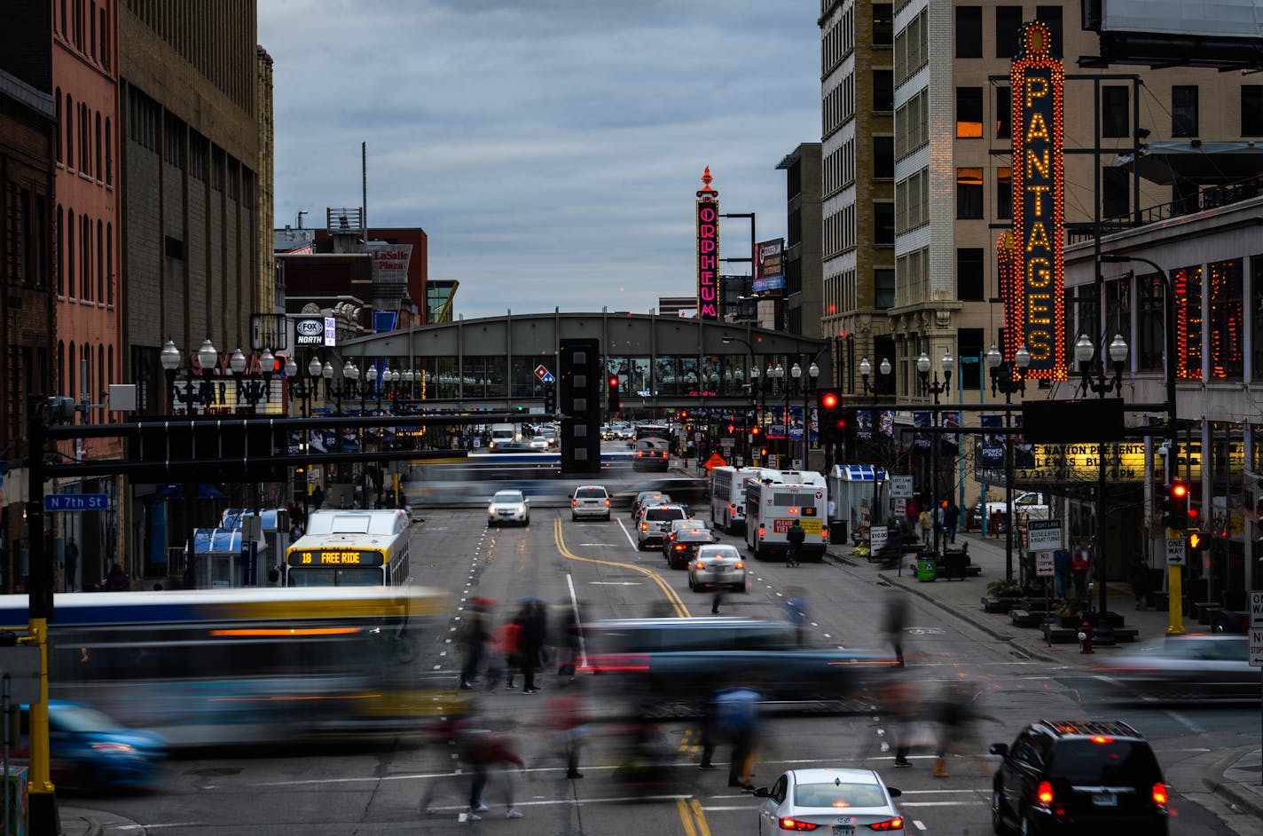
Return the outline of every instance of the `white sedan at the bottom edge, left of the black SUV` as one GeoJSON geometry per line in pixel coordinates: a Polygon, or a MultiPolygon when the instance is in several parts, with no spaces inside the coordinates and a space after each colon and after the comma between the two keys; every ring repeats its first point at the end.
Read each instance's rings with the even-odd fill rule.
{"type": "Polygon", "coordinates": [[[754,797],[764,799],[759,806],[760,833],[817,828],[834,836],[904,832],[903,816],[894,807],[901,794],[871,769],[791,769],[770,788],[754,789],[754,797]]]}

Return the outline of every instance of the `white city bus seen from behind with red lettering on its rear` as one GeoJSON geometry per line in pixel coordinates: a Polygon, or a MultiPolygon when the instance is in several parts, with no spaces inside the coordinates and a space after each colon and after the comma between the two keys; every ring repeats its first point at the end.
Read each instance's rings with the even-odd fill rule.
{"type": "Polygon", "coordinates": [[[757,467],[745,482],[745,544],[757,558],[783,556],[793,520],[807,533],[798,559],[822,559],[829,546],[829,489],[815,471],[757,467]]]}

